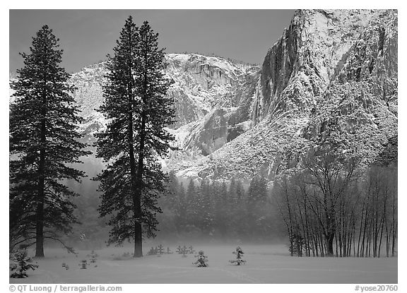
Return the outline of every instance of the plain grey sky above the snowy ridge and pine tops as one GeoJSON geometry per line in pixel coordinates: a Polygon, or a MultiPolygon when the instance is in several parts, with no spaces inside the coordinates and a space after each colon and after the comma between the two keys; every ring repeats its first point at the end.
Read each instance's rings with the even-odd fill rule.
{"type": "Polygon", "coordinates": [[[288,28],[293,10],[10,10],[10,71],[23,66],[32,37],[49,25],[64,49],[66,71],[104,60],[131,15],[158,32],[165,52],[217,54],[261,64],[267,49],[288,28]]]}

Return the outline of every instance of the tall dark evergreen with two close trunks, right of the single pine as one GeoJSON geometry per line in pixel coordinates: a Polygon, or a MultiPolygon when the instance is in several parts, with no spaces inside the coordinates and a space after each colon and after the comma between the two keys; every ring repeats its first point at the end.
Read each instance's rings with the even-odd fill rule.
{"type": "Polygon", "coordinates": [[[164,49],[148,22],[136,28],[131,16],[108,61],[105,102],[100,112],[109,120],[98,133],[98,157],[110,162],[102,174],[100,215],[113,214],[110,243],[134,239],[134,257],[142,253],[143,234],[155,237],[157,205],[167,179],[157,158],[166,155],[173,137],[165,126],[174,122],[173,100],[166,97],[164,49]]]}

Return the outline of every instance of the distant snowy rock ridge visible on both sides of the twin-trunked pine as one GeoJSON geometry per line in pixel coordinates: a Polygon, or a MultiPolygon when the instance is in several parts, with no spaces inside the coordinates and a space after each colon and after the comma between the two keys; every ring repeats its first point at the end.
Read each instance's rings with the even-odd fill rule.
{"type": "MultiPolygon", "coordinates": [[[[177,136],[179,148],[208,155],[247,130],[259,67],[199,54],[167,54],[166,63],[166,76],[174,81],[167,95],[176,109],[176,123],[169,131],[177,136]]],[[[88,66],[70,80],[78,88],[74,97],[88,143],[106,124],[96,111],[103,101],[105,66],[88,66]]]]}

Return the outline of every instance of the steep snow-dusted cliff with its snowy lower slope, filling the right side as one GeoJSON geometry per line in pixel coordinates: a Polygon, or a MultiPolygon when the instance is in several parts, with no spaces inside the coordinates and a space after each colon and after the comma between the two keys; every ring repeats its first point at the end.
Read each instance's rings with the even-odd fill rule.
{"type": "MultiPolygon", "coordinates": [[[[278,151],[309,135],[317,118],[329,120],[322,114],[340,103],[345,90],[353,104],[341,111],[356,118],[349,115],[343,123],[350,131],[366,128],[370,141],[377,138],[365,145],[371,150],[366,155],[375,157],[386,148],[396,153],[396,11],[297,11],[266,54],[249,130],[209,156],[169,165],[182,177],[250,178],[261,173],[273,179],[278,151]]],[[[311,135],[322,129],[314,127],[311,135]]]]}

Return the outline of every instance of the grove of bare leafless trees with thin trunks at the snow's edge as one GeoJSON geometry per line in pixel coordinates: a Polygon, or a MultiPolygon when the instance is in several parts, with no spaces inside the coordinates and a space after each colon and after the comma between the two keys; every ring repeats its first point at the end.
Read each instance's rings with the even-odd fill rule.
{"type": "Polygon", "coordinates": [[[291,256],[395,256],[396,174],[394,167],[372,167],[328,200],[309,183],[312,175],[279,180],[273,190],[291,256]]]}

